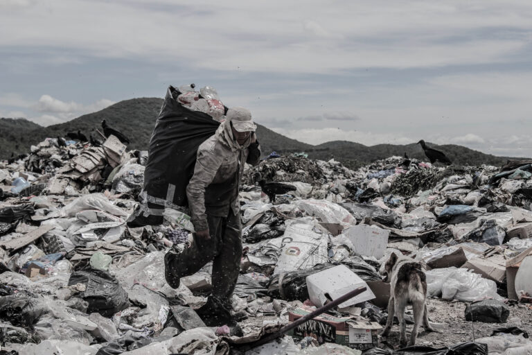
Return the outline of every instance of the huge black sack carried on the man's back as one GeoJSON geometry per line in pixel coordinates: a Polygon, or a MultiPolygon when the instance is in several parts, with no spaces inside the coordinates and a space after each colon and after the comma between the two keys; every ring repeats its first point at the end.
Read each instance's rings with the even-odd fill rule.
{"type": "Polygon", "coordinates": [[[148,202],[152,215],[161,216],[165,206],[187,205],[186,186],[194,173],[197,148],[220,125],[209,114],[177,102],[179,94],[175,87],[168,87],[150,139],[141,198],[148,202]]]}

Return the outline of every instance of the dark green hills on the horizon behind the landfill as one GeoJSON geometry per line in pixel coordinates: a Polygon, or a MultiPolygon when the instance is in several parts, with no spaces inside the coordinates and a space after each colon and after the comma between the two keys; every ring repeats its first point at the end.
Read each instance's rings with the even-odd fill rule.
{"type": "MultiPolygon", "coordinates": [[[[0,159],[7,159],[11,153],[15,153],[15,155],[27,153],[32,144],[38,144],[46,137],[64,137],[67,132],[81,130],[87,137],[91,134],[101,139],[96,129],[102,132],[100,125],[102,119],[106,119],[109,125],[130,138],[132,143],[129,148],[146,150],[162,103],[162,98],[133,98],[98,112],[85,114],[69,122],[50,125],[46,128],[26,119],[0,119],[0,132],[6,132],[6,134],[0,135],[0,159]]],[[[427,160],[421,147],[414,143],[405,146],[392,144],[364,146],[353,141],[330,141],[312,146],[279,135],[260,124],[257,128],[257,137],[264,155],[269,155],[272,151],[277,153],[305,152],[313,159],[328,160],[334,158],[351,168],[404,153],[407,153],[409,157],[427,160]]],[[[427,144],[443,150],[455,164],[502,165],[506,160],[512,159],[484,154],[463,146],[436,146],[428,142],[427,144]]]]}

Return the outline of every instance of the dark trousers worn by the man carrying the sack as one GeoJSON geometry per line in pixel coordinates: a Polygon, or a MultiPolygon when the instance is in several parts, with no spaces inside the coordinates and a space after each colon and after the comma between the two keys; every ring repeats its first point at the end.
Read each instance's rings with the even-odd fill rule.
{"type": "Polygon", "coordinates": [[[207,215],[211,239],[198,238],[175,260],[181,277],[193,275],[213,261],[213,296],[229,306],[235,291],[240,258],[242,257],[242,227],[240,216],[229,211],[227,217],[207,215]]]}

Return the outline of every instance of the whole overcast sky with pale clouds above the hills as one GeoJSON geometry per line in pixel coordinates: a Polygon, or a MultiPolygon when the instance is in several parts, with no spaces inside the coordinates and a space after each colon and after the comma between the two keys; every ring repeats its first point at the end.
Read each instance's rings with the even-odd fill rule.
{"type": "Polygon", "coordinates": [[[531,157],[532,1],[0,0],[0,116],[51,125],[185,83],[310,144],[531,157]]]}

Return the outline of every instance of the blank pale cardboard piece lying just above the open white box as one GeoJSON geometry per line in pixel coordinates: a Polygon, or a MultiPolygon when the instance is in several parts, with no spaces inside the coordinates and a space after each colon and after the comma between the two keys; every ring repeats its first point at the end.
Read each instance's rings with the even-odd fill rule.
{"type": "Polygon", "coordinates": [[[383,230],[376,225],[353,225],[344,230],[348,239],[355,246],[355,252],[366,257],[380,259],[384,257],[384,250],[388,246],[389,230],[383,230]]]}

